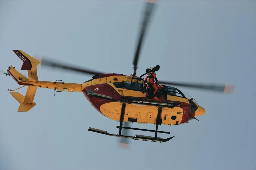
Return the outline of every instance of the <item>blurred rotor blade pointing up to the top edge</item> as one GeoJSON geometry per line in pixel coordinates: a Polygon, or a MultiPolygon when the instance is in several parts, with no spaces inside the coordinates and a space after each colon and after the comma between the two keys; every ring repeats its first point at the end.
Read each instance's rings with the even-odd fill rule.
{"type": "Polygon", "coordinates": [[[133,65],[134,65],[134,73],[133,74],[134,74],[134,76],[136,74],[138,59],[140,56],[140,50],[141,50],[141,46],[142,46],[142,43],[144,40],[144,34],[146,32],[147,24],[148,24],[150,15],[152,14],[153,8],[156,5],[156,3],[157,3],[156,0],[147,0],[147,2],[146,2],[144,18],[143,18],[143,22],[142,22],[142,26],[141,26],[141,30],[140,30],[140,36],[139,36],[138,44],[136,47],[136,53],[135,53],[135,56],[133,59],[133,65]]]}

